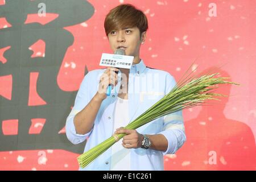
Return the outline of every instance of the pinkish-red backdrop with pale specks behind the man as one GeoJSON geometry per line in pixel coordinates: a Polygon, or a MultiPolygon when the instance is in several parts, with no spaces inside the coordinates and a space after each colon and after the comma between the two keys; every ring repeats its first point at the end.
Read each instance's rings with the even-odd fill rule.
{"type": "MultiPolygon", "coordinates": [[[[149,29],[141,58],[148,67],[170,72],[176,80],[196,60],[196,73],[216,68],[222,76],[230,77],[241,86],[224,86],[219,92],[229,94],[218,105],[195,107],[184,111],[187,142],[174,155],[164,157],[166,170],[256,169],[256,1],[89,1],[95,12],[89,20],[65,27],[75,41],[65,54],[57,83],[70,92],[79,89],[88,71],[98,66],[102,52],[111,52],[104,32],[104,18],[120,3],[132,3],[148,17],[149,29]],[[208,7],[216,3],[217,16],[210,17],[208,7]]],[[[0,0],[0,5],[5,5],[0,0]]],[[[28,15],[26,23],[47,24],[57,14],[46,17],[28,15]]],[[[0,28],[10,27],[0,18],[0,28]]],[[[32,57],[44,55],[43,40],[31,46],[32,57]]],[[[0,62],[6,63],[0,49],[0,62]]],[[[35,105],[47,104],[31,86],[30,99],[35,105]]],[[[0,97],[11,100],[11,76],[0,77],[0,97]]],[[[33,85],[33,84],[31,84],[33,85]]],[[[35,121],[36,122],[36,121],[35,121]]],[[[40,121],[43,125],[43,121],[40,121]]],[[[43,127],[43,126],[42,126],[43,127]]],[[[64,127],[64,126],[63,126],[64,127]]],[[[16,130],[2,126],[2,130],[16,130]]],[[[64,133],[63,129],[61,133],[64,133]]],[[[1,142],[1,141],[0,141],[1,142]]],[[[76,170],[74,154],[65,150],[28,150],[0,152],[0,170],[76,170]]]]}

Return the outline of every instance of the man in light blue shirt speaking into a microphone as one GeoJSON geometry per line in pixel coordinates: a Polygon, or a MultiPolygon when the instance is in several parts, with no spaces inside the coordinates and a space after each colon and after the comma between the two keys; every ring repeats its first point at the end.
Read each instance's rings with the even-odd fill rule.
{"type": "Polygon", "coordinates": [[[133,65],[130,70],[96,69],[84,77],[67,118],[66,133],[74,144],[87,138],[84,151],[113,133],[126,135],[80,169],[163,170],[163,155],[174,154],[185,142],[182,113],[155,119],[137,130],[123,127],[170,92],[176,84],[174,77],[146,67],[140,59],[139,50],[148,28],[146,15],[141,10],[133,5],[119,5],[106,16],[104,27],[112,50],[120,48],[126,55],[134,56],[133,65]],[[114,89],[107,97],[109,84],[114,89]]]}

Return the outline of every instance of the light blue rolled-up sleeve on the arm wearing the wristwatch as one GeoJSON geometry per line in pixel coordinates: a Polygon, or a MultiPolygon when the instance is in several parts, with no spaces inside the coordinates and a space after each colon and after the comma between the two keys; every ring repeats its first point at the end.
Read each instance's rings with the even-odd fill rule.
{"type": "MultiPolygon", "coordinates": [[[[168,74],[166,77],[166,94],[171,92],[175,85],[174,77],[168,74]]],[[[165,115],[163,120],[163,131],[159,134],[164,135],[168,140],[168,148],[163,152],[163,155],[175,154],[186,140],[182,111],[165,115]]]]}

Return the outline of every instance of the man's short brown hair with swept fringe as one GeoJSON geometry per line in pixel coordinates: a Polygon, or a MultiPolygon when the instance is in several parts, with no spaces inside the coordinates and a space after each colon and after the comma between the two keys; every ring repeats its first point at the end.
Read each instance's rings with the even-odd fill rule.
{"type": "Polygon", "coordinates": [[[126,27],[138,27],[141,34],[148,29],[146,15],[130,4],[119,5],[110,10],[104,22],[106,36],[112,30],[126,27]]]}

